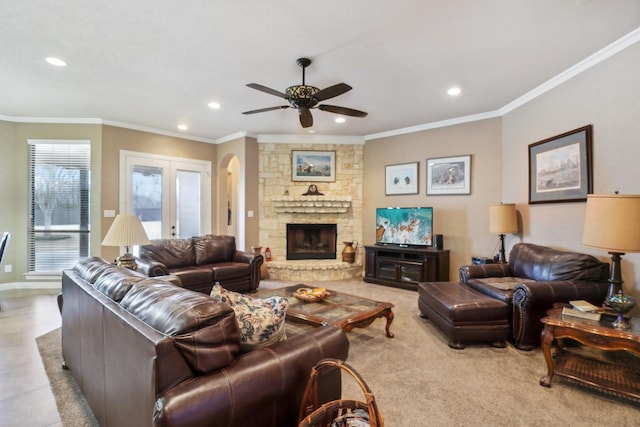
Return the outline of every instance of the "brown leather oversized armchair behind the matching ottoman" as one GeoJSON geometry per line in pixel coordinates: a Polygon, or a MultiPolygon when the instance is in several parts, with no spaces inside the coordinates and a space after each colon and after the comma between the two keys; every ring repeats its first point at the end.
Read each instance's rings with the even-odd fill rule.
{"type": "Polygon", "coordinates": [[[506,264],[465,265],[460,281],[511,308],[513,343],[522,350],[540,345],[540,322],[556,302],[587,300],[602,305],[609,265],[577,252],[532,243],[513,246],[506,264]]]}

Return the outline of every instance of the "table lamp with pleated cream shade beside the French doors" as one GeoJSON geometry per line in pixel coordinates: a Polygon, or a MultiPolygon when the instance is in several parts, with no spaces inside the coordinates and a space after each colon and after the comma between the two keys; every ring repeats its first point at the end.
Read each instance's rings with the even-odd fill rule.
{"type": "Polygon", "coordinates": [[[140,218],[136,215],[118,215],[111,224],[111,228],[104,236],[104,246],[124,246],[125,253],[116,258],[118,267],[137,270],[135,258],[129,253],[129,248],[134,245],[146,245],[149,243],[147,233],[144,231],[140,218]]]}

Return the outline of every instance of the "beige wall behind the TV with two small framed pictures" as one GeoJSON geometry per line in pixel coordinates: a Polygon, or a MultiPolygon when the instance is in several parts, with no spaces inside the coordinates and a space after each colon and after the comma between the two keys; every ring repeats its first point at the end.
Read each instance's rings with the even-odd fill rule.
{"type": "Polygon", "coordinates": [[[375,209],[432,206],[433,232],[450,252],[449,279],[473,255],[492,256],[498,237],[489,234],[489,205],[501,199],[501,121],[490,119],[367,141],[364,148],[364,242],[375,242],[375,209]],[[426,195],[426,159],[471,155],[471,194],[426,195]],[[385,195],[385,166],[419,162],[416,195],[385,195]]]}

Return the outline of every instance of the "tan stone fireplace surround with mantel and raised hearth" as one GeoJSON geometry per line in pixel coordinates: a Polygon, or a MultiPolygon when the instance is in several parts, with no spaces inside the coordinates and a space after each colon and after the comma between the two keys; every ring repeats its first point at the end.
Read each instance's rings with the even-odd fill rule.
{"type": "MultiPolygon", "coordinates": [[[[363,145],[269,142],[259,143],[258,149],[260,236],[255,246],[268,247],[271,251],[272,261],[265,262],[268,278],[300,283],[362,278],[362,246],[358,248],[355,262],[347,263],[342,261],[341,242],[362,241],[363,145]],[[292,180],[292,150],[335,151],[335,181],[313,182],[321,194],[305,195],[310,183],[292,180]],[[322,258],[315,253],[298,253],[292,258],[296,250],[287,239],[287,224],[335,224],[335,237],[326,244],[331,250],[322,258]]],[[[297,245],[311,244],[316,238],[309,233],[305,238],[303,233],[296,237],[297,245]],[[305,239],[309,242],[304,243],[305,239]]],[[[323,239],[320,235],[319,240],[323,239]]]]}

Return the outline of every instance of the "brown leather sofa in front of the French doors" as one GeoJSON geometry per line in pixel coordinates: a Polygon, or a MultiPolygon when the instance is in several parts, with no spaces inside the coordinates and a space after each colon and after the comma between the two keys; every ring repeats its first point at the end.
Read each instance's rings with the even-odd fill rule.
{"type": "Polygon", "coordinates": [[[255,292],[262,255],[236,249],[234,236],[208,234],[188,239],[156,239],[140,246],[138,271],[149,277],[174,275],[182,286],[209,294],[216,282],[235,292],[255,292]]]}

